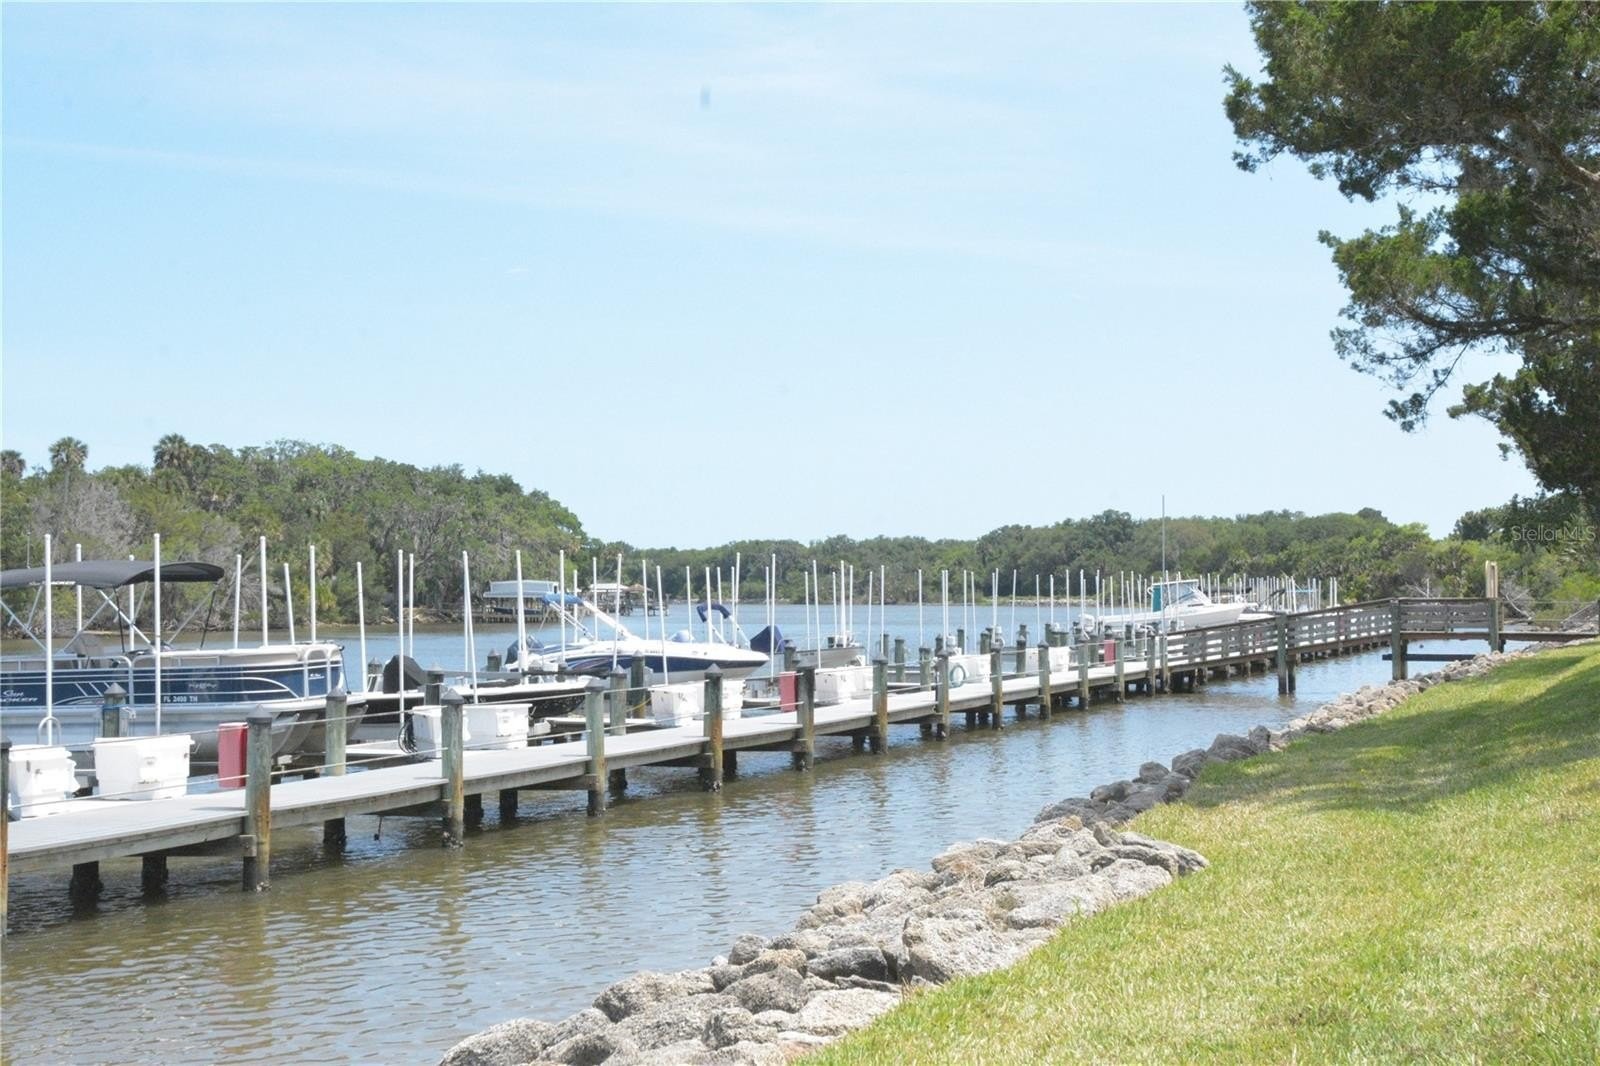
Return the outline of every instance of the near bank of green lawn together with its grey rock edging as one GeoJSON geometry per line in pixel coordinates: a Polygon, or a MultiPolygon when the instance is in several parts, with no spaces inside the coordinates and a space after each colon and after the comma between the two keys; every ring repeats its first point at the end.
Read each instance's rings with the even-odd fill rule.
{"type": "Polygon", "coordinates": [[[1368,687],[445,1064],[1581,1060],[1600,1047],[1597,707],[1595,645],[1368,687]]]}

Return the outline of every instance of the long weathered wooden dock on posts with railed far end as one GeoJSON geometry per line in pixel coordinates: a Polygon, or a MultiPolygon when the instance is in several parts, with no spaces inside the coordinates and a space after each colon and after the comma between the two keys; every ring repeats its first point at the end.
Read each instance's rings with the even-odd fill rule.
{"type": "MultiPolygon", "coordinates": [[[[986,634],[987,635],[987,634],[986,634]]],[[[808,770],[816,741],[850,736],[859,749],[882,751],[890,728],[917,725],[930,738],[949,735],[960,714],[968,728],[1000,728],[1003,709],[1018,714],[1035,707],[1050,717],[1058,707],[1086,706],[1098,696],[1123,699],[1130,693],[1182,691],[1208,677],[1275,671],[1280,691],[1294,690],[1296,664],[1310,658],[1386,647],[1394,675],[1405,677],[1406,647],[1414,640],[1573,640],[1595,634],[1522,632],[1499,626],[1493,600],[1381,600],[1352,603],[1262,621],[1237,623],[1168,635],[1106,640],[1064,647],[1066,634],[1029,647],[989,647],[986,656],[930,656],[906,663],[874,661],[870,695],[834,706],[816,706],[816,669],[797,671],[797,706],[778,714],[725,717],[720,679],[707,679],[706,715],[666,728],[630,730],[643,691],[595,679],[586,698],[587,728],[565,743],[512,751],[466,749],[461,743],[459,701],[445,701],[445,751],[440,759],[347,773],[344,752],[330,752],[317,776],[277,779],[270,763],[253,759],[245,789],[128,802],[85,797],[66,800],[61,813],[0,820],[0,919],[11,872],[72,868],[75,893],[93,893],[98,863],[142,856],[147,885],[165,880],[166,861],[182,855],[235,855],[243,863],[246,890],[266,888],[274,829],[322,824],[325,840],[342,844],[344,820],[358,815],[421,815],[438,818],[445,842],[464,839],[464,826],[482,812],[483,799],[498,797],[514,813],[518,792],[579,789],[589,813],[603,815],[606,795],[626,787],[635,767],[683,767],[699,773],[709,789],[722,787],[741,751],[787,752],[797,770],[808,770]],[[952,683],[965,677],[965,683],[952,683]]],[[[984,643],[994,643],[986,640],[984,643]]],[[[267,717],[253,717],[259,743],[269,751],[267,717]]],[[[6,741],[5,747],[10,747],[6,741]]],[[[10,765],[10,752],[0,767],[10,765]]]]}

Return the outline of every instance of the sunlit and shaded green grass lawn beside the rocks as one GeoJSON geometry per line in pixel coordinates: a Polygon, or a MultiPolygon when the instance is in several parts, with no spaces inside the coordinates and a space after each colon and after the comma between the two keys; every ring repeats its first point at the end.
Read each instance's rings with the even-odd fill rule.
{"type": "Polygon", "coordinates": [[[1211,869],[806,1061],[1600,1063],[1600,647],[1211,765],[1131,828],[1211,869]]]}

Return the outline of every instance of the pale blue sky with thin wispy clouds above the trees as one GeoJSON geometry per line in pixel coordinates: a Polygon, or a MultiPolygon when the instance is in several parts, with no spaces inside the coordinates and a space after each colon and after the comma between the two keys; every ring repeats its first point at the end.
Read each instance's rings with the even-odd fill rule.
{"type": "Polygon", "coordinates": [[[1333,355],[1317,230],[1392,206],[1240,173],[1224,62],[1232,5],[5,5],[0,440],[459,463],[640,546],[1530,491],[1333,355]]]}

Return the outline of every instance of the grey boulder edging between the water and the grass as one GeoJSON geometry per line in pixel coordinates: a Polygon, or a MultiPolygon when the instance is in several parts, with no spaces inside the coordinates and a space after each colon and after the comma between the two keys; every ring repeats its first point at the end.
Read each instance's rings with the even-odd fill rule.
{"type": "Polygon", "coordinates": [[[824,890],[789,933],[739,936],[709,967],[635,973],[558,1023],[520,1018],[467,1037],[442,1066],[786,1063],[870,1023],[915,988],[1011,965],[1075,917],[1203,869],[1189,848],[1117,829],[1181,797],[1210,762],[1248,759],[1382,714],[1432,685],[1533,651],[1480,655],[1366,685],[1282,730],[1218,735],[1042,810],[1018,840],[957,844],[926,872],[824,890]]]}

